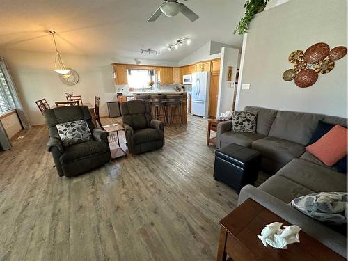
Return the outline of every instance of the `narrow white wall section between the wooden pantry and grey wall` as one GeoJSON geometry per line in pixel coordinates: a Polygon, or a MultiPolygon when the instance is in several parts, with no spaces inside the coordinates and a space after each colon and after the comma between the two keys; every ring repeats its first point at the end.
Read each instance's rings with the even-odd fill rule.
{"type": "Polygon", "coordinates": [[[221,49],[221,68],[219,79],[219,98],[217,115],[226,111],[232,111],[233,95],[235,87],[231,88],[230,84],[235,82],[237,66],[239,65],[239,49],[222,47],[221,49]],[[228,67],[232,67],[232,81],[227,81],[228,67]]]}

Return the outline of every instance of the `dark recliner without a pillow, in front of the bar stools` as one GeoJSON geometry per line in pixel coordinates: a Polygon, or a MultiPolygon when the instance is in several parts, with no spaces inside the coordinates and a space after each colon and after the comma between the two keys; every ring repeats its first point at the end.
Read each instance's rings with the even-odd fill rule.
{"type": "Polygon", "coordinates": [[[123,102],[121,113],[129,152],[139,154],[164,146],[164,122],[152,119],[150,102],[123,102]]]}

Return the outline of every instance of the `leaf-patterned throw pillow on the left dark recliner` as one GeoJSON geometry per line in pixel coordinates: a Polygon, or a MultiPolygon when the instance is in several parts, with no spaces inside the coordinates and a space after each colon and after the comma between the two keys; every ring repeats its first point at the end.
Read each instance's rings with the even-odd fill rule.
{"type": "Polygon", "coordinates": [[[65,147],[92,139],[86,120],[65,122],[57,124],[56,127],[65,147]]]}

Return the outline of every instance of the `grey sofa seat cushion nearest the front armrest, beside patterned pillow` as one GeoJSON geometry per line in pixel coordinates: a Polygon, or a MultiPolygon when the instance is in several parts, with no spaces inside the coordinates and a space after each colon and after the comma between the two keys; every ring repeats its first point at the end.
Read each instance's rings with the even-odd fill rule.
{"type": "Polygon", "coordinates": [[[269,179],[263,182],[258,188],[285,203],[290,203],[291,200],[299,196],[316,192],[280,175],[269,177],[269,179]]]}

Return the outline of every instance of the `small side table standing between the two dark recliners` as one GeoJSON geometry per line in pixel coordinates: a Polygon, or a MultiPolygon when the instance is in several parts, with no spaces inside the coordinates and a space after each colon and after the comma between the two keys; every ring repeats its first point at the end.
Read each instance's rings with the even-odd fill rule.
{"type": "Polygon", "coordinates": [[[118,159],[120,157],[127,156],[127,153],[125,152],[125,150],[123,150],[120,146],[120,138],[118,136],[118,132],[125,129],[118,123],[114,123],[111,125],[104,125],[103,127],[106,132],[109,132],[108,140],[109,140],[111,159],[118,159]]]}

